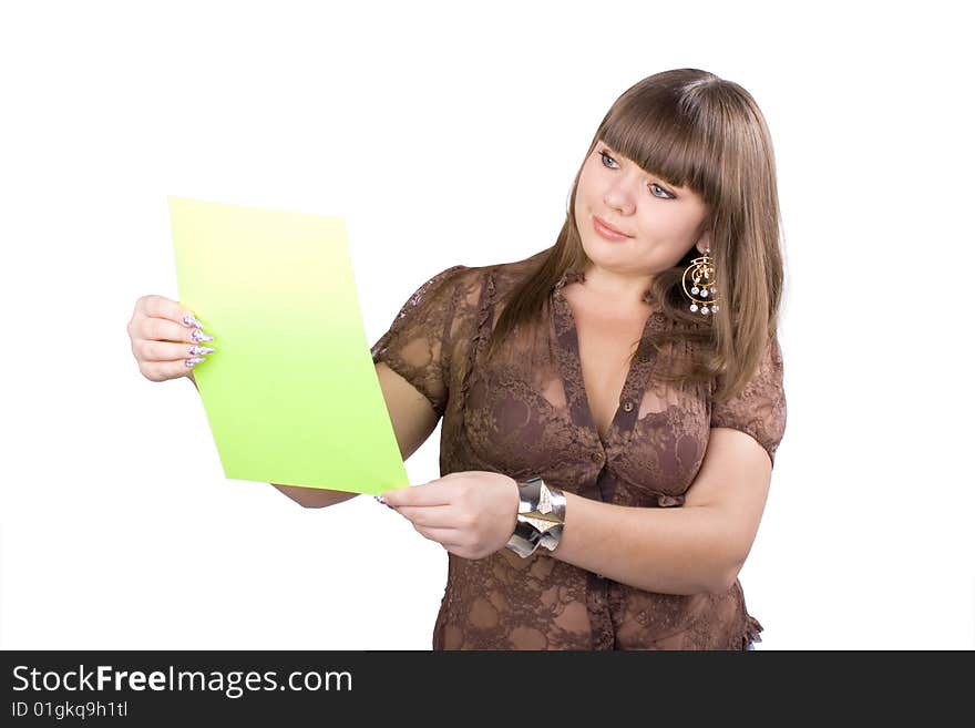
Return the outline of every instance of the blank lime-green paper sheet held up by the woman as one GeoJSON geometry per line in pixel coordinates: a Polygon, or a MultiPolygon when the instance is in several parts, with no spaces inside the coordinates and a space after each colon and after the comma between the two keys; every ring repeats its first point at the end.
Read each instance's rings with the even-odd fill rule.
{"type": "Polygon", "coordinates": [[[362,326],[345,219],[168,197],[193,370],[227,478],[409,485],[362,326]]]}

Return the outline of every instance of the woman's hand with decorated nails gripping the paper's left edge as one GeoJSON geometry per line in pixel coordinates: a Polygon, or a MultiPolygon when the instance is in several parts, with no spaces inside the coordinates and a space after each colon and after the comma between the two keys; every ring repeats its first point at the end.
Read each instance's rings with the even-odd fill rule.
{"type": "Polygon", "coordinates": [[[135,301],[129,338],[138,371],[150,381],[186,377],[215,350],[205,345],[213,337],[204,332],[193,314],[163,296],[143,296],[135,301]]]}

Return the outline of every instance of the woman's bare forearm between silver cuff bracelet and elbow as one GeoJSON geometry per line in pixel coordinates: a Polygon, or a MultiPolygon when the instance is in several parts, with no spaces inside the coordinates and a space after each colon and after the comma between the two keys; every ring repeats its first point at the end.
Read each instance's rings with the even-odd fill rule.
{"type": "Polygon", "coordinates": [[[553,558],[660,594],[727,587],[735,558],[714,509],[630,507],[564,494],[562,540],[545,552],[553,558]]]}

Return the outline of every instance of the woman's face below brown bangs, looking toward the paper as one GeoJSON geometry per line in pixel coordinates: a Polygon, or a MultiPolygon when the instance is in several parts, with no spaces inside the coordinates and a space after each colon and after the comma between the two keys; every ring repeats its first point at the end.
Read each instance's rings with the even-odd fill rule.
{"type": "Polygon", "coordinates": [[[708,238],[699,228],[707,207],[700,195],[647,174],[602,140],[585,161],[575,196],[583,248],[598,267],[619,275],[655,275],[677,265],[708,238]],[[626,234],[607,239],[595,227],[602,218],[626,234]]]}

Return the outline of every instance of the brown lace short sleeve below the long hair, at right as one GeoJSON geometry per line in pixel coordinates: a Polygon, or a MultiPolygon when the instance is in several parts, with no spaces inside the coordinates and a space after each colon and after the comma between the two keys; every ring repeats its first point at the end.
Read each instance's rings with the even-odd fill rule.
{"type": "Polygon", "coordinates": [[[745,389],[711,409],[712,428],[733,428],[755,438],[776,465],[776,450],[786,433],[786,390],[779,338],[769,338],[764,356],[745,389]]]}

